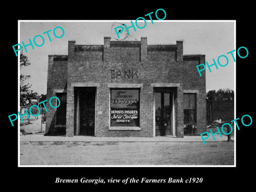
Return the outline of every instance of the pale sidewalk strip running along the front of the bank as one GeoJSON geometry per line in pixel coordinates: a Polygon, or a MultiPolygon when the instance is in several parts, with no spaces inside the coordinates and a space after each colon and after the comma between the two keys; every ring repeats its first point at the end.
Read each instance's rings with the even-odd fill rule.
{"type": "MultiPolygon", "coordinates": [[[[210,136],[205,142],[220,142],[227,141],[227,136],[214,135],[215,141],[210,136]]],[[[84,141],[84,142],[203,142],[201,136],[184,136],[184,138],[176,137],[153,137],[153,138],[142,138],[142,137],[91,137],[91,136],[44,136],[43,134],[28,134],[21,135],[20,141],[84,141]]],[[[234,137],[231,137],[231,141],[234,141],[234,137]]]]}

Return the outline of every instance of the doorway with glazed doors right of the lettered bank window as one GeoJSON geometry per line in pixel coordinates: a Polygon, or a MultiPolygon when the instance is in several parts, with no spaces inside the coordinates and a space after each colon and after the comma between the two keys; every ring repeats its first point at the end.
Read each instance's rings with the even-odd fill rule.
{"type": "Polygon", "coordinates": [[[175,131],[175,89],[157,87],[155,95],[155,136],[176,135],[175,131]]]}

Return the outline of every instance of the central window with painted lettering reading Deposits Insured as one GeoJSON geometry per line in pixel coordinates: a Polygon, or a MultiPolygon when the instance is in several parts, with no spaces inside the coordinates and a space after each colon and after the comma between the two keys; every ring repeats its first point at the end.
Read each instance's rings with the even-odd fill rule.
{"type": "Polygon", "coordinates": [[[110,126],[140,126],[140,90],[110,91],[110,126]]]}

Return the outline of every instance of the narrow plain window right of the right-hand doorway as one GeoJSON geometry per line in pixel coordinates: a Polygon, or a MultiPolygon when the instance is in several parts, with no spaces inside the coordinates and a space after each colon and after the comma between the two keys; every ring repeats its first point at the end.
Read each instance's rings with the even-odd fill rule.
{"type": "Polygon", "coordinates": [[[184,93],[184,124],[196,124],[196,94],[184,93]]]}

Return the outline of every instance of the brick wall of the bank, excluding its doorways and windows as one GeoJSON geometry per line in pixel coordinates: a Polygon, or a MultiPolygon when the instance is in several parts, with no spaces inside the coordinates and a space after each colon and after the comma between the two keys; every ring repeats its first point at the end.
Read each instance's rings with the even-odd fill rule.
{"type": "MultiPolygon", "coordinates": [[[[74,135],[76,125],[74,102],[76,86],[97,86],[95,110],[102,111],[102,114],[96,113],[96,137],[153,137],[154,86],[158,83],[179,84],[175,93],[177,136],[183,137],[183,90],[197,91],[197,122],[199,129],[201,127],[204,129],[205,74],[199,77],[195,67],[198,62],[203,63],[204,55],[183,56],[183,41],[169,45],[148,45],[146,37],[134,42],[114,42],[110,41],[110,37],[105,37],[103,45],[76,45],[75,41],[69,41],[68,46],[68,61],[53,62],[52,57],[49,56],[47,84],[48,98],[53,95],[53,89],[64,89],[64,84],[67,83],[67,136],[74,135]],[[61,65],[63,68],[58,68],[61,65]],[[115,75],[111,75],[111,70],[112,72],[115,70],[115,75]],[[117,76],[119,70],[121,74],[124,70],[137,71],[139,78],[136,75],[133,78],[117,76]],[[141,130],[109,130],[109,85],[114,83],[142,85],[141,130]]],[[[48,117],[50,122],[53,113],[49,113],[48,117]]]]}

